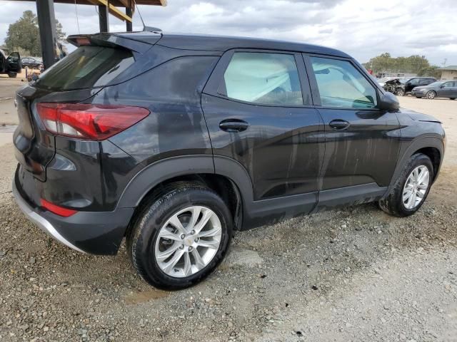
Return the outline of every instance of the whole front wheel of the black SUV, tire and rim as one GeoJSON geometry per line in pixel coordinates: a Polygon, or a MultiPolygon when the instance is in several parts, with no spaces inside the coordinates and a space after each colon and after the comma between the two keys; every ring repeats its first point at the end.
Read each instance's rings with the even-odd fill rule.
{"type": "Polygon", "coordinates": [[[422,153],[413,155],[391,190],[379,201],[379,207],[393,216],[410,216],[425,202],[432,182],[433,165],[430,158],[422,153]]]}

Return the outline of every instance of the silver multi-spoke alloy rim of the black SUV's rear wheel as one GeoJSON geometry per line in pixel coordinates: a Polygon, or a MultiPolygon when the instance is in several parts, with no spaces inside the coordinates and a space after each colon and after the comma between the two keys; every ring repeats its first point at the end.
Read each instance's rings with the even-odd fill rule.
{"type": "Polygon", "coordinates": [[[169,276],[191,276],[214,258],[221,237],[221,220],[213,210],[201,206],[181,209],[159,231],[156,262],[169,276]]]}

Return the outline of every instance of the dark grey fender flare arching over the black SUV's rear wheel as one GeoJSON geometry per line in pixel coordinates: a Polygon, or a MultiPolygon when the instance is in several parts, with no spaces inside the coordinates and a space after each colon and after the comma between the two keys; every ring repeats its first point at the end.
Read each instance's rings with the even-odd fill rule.
{"type": "Polygon", "coordinates": [[[229,157],[186,155],[169,157],[144,167],[127,184],[119,197],[117,207],[137,207],[151,189],[171,178],[204,173],[229,178],[238,187],[243,204],[252,202],[251,178],[239,162],[229,157]]]}

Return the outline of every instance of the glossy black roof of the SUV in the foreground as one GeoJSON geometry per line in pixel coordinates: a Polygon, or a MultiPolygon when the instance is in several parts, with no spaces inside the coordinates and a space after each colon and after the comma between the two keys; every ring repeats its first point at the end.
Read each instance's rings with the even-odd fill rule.
{"type": "Polygon", "coordinates": [[[351,58],[348,54],[334,48],[326,48],[313,44],[277,41],[272,39],[236,37],[236,36],[214,36],[209,34],[189,34],[189,33],[163,33],[163,32],[132,32],[116,33],[116,36],[131,38],[137,41],[149,42],[157,39],[157,34],[161,34],[161,39],[157,43],[161,46],[170,48],[181,48],[184,50],[201,51],[227,51],[232,48],[258,48],[265,50],[296,51],[303,53],[317,53],[329,56],[351,58]]]}

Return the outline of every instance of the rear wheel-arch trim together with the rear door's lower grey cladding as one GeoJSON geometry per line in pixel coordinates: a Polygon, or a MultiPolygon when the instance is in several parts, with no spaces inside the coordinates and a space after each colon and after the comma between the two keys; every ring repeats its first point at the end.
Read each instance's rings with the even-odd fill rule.
{"type": "Polygon", "coordinates": [[[254,201],[253,186],[246,169],[236,160],[216,155],[170,157],[148,165],[126,186],[117,207],[137,207],[152,188],[173,177],[205,173],[227,177],[238,188],[243,202],[242,229],[308,214],[316,207],[317,192],[254,201]]]}

